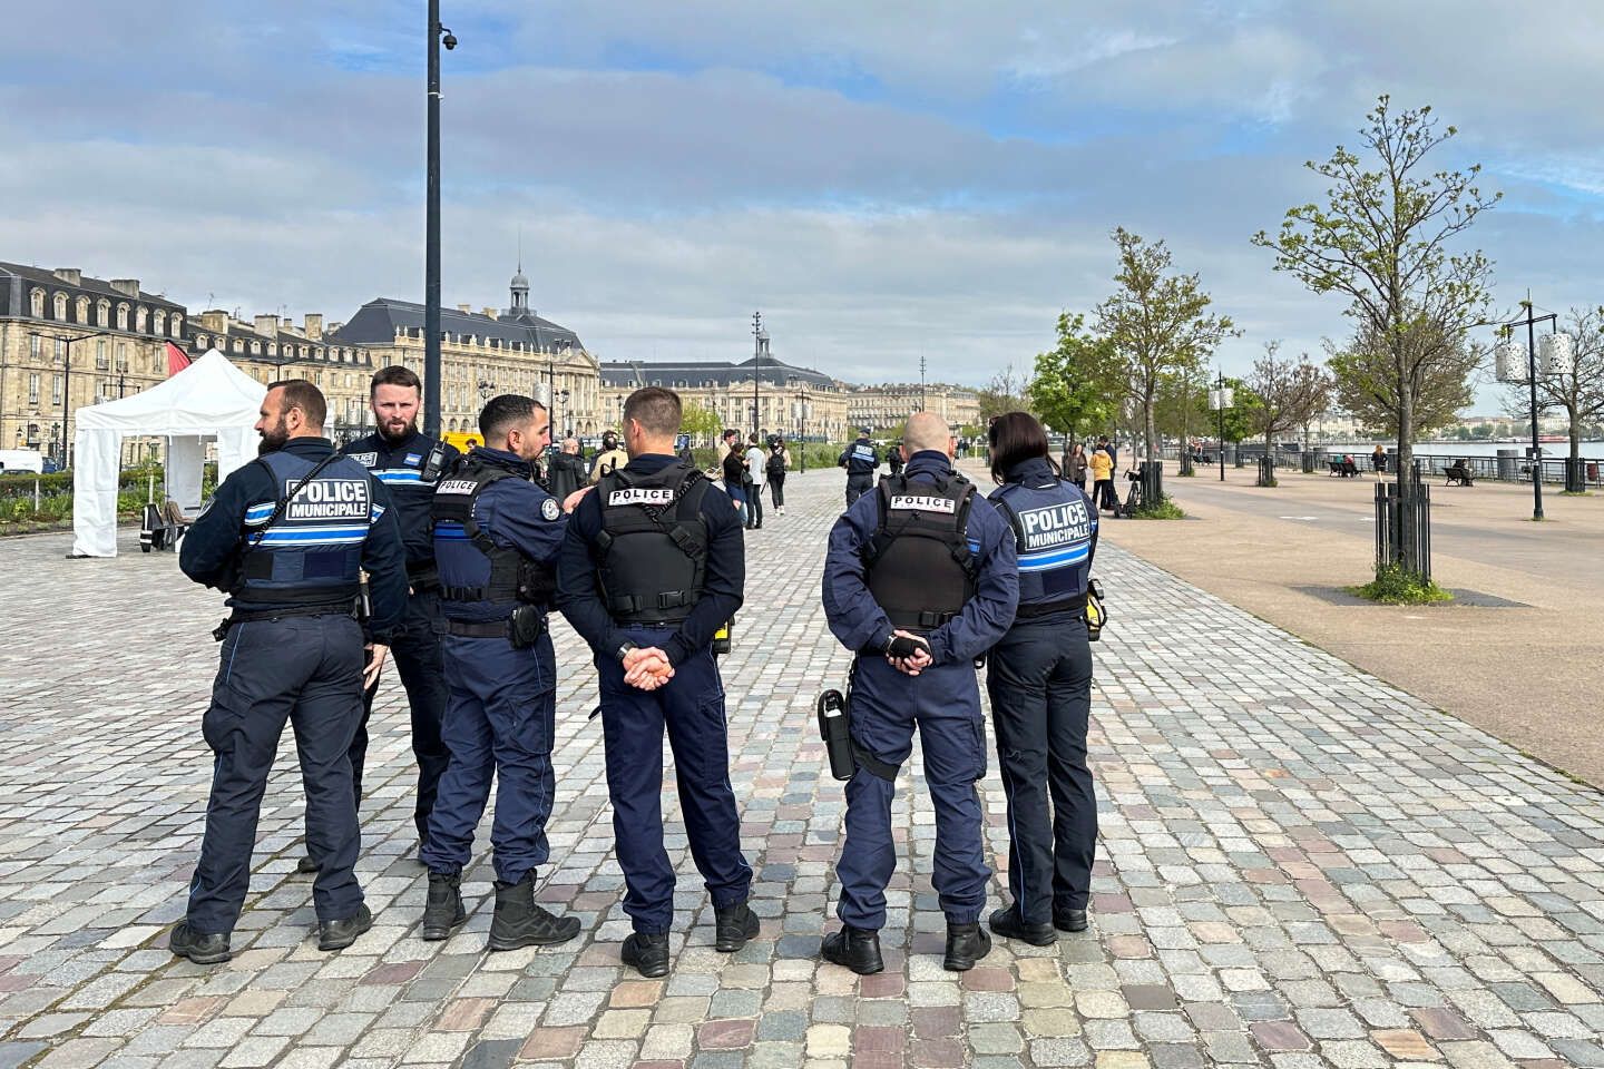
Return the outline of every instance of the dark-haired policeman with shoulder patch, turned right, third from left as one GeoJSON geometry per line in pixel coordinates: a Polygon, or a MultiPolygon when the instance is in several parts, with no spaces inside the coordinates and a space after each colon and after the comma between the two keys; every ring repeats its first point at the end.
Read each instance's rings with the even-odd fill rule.
{"type": "Polygon", "coordinates": [[[566,942],[577,917],[534,902],[536,867],[550,849],[557,729],[557,662],[545,614],[568,526],[534,482],[550,430],[531,397],[502,394],[480,412],[484,446],[435,487],[435,561],[446,628],[444,737],[451,763],[428,819],[423,938],[444,939],[467,920],[462,867],[496,781],[496,915],[491,950],[566,942]]]}

